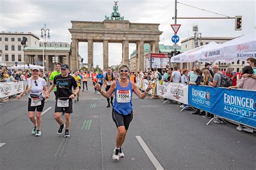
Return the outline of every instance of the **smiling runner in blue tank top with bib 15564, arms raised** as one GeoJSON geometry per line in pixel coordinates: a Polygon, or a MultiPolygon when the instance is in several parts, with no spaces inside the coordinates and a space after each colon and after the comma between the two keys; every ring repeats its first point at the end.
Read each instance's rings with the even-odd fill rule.
{"type": "Polygon", "coordinates": [[[100,84],[95,84],[95,88],[105,98],[109,98],[114,93],[114,104],[112,109],[112,118],[117,126],[116,147],[112,158],[119,160],[124,157],[121,146],[124,143],[126,132],[129,128],[129,124],[132,121],[132,91],[141,99],[147,96],[147,93],[153,88],[151,83],[147,87],[144,93],[141,93],[135,83],[127,79],[129,75],[129,67],[127,65],[121,65],[119,67],[120,79],[114,81],[108,91],[103,91],[100,84]]]}

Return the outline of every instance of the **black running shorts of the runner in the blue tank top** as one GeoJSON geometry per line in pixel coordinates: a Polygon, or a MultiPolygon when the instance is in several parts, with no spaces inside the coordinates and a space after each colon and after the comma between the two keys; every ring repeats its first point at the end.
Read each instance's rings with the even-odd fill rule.
{"type": "Polygon", "coordinates": [[[117,128],[119,126],[124,126],[125,130],[128,130],[130,123],[132,122],[133,112],[129,115],[121,115],[116,110],[112,109],[112,119],[116,124],[117,128]]]}

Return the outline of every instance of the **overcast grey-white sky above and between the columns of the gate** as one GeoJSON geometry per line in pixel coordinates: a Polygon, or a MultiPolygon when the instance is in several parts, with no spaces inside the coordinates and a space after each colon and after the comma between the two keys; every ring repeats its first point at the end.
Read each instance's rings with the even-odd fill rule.
{"type": "MultiPolygon", "coordinates": [[[[181,24],[178,36],[181,40],[192,36],[193,24],[198,24],[202,36],[238,37],[253,31],[256,26],[255,0],[178,0],[180,3],[220,13],[225,16],[242,16],[242,31],[234,31],[234,19],[178,19],[181,24]]],[[[0,0],[0,31],[32,32],[41,36],[41,28],[46,23],[50,29],[50,40],[70,42],[70,20],[102,22],[110,16],[113,1],[67,1],[67,0],[0,0]]],[[[119,0],[119,12],[131,23],[159,23],[160,44],[172,45],[174,24],[174,0],[119,0]]],[[[213,13],[178,4],[178,17],[223,17],[213,13]]],[[[102,43],[94,44],[94,65],[103,66],[102,43]]],[[[130,54],[136,48],[129,44],[130,54]]],[[[87,62],[87,43],[79,43],[79,54],[87,62]]],[[[117,65],[122,60],[122,44],[109,44],[109,65],[117,65]]]]}

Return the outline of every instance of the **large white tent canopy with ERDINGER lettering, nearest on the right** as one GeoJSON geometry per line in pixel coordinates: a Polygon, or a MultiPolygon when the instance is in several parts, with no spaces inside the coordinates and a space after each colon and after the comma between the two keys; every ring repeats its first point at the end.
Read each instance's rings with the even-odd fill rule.
{"type": "Polygon", "coordinates": [[[219,44],[211,49],[203,49],[202,57],[207,59],[247,59],[256,58],[256,29],[250,34],[219,44]]]}

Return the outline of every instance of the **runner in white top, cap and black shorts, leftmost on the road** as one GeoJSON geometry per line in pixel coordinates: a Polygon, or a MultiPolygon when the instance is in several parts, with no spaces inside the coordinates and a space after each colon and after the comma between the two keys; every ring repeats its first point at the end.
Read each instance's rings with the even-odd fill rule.
{"type": "Polygon", "coordinates": [[[39,77],[39,69],[32,69],[32,76],[27,80],[26,89],[17,96],[17,99],[20,99],[25,93],[29,93],[29,118],[34,125],[32,134],[41,136],[41,114],[44,109],[44,94],[47,94],[48,90],[45,80],[39,77]]]}

